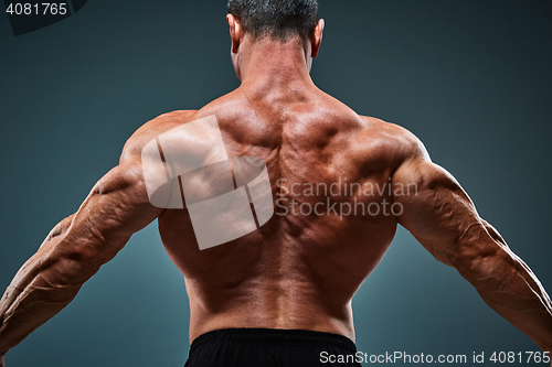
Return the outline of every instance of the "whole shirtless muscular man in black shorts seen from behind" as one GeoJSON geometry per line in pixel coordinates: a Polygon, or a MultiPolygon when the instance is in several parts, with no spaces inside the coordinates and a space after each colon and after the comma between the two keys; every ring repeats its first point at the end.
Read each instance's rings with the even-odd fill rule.
{"type": "MultiPolygon", "coordinates": [[[[385,253],[397,224],[437,260],[455,267],[495,311],[552,350],[550,298],[479,217],[458,182],[431,161],[412,133],[360,117],[314,85],[309,72],[323,29],[322,20],[314,23],[316,1],[279,10],[265,2],[229,3],[240,88],[199,111],[163,115],[129,139],[119,165],[51,231],[2,296],[0,366],[10,348],[68,304],[134,233],[156,218],[167,252],[187,281],[190,341],[197,342],[190,366],[319,366],[323,353],[353,356],[351,299],[385,253]],[[248,7],[255,11],[244,11],[248,7]],[[258,21],[256,26],[244,23],[253,32],[232,12],[251,17],[252,24],[258,21]],[[256,19],[259,12],[266,19],[256,19]],[[277,14],[289,18],[289,24],[273,23],[280,19],[277,14]],[[294,24],[306,28],[294,30],[294,24]],[[174,153],[193,163],[177,162],[179,171],[184,166],[184,179],[170,171],[180,156],[174,153]],[[270,214],[275,211],[268,222],[257,216],[256,229],[252,220],[258,193],[252,194],[241,168],[233,166],[236,156],[267,168],[268,179],[262,181],[270,186],[263,187],[261,197],[263,204],[268,197],[270,214]],[[157,165],[150,168],[150,161],[157,165]],[[212,180],[216,164],[225,166],[224,184],[212,180]],[[217,206],[216,213],[201,214],[212,222],[201,230],[232,229],[227,238],[234,240],[200,249],[192,220],[195,204],[212,208],[211,198],[221,203],[219,196],[232,192],[231,180],[243,198],[236,199],[241,211],[252,217],[243,227],[253,230],[237,228],[245,223],[242,212],[240,220],[224,222],[236,212],[219,213],[217,206]],[[166,196],[159,187],[171,192],[166,196]],[[177,197],[178,188],[183,197],[177,197]],[[159,197],[170,205],[158,205],[159,197]],[[181,201],[176,205],[173,198],[181,201]],[[182,207],[182,201],[188,208],[163,209],[182,207]],[[237,226],[216,228],[221,223],[237,226]]],[[[233,195],[225,205],[237,197],[233,195]]]]}

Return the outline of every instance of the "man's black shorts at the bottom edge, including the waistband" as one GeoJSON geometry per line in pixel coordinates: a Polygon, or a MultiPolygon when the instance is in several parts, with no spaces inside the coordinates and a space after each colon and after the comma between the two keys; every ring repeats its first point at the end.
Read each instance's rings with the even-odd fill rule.
{"type": "Polygon", "coordinates": [[[337,334],[225,328],[195,338],[184,367],[357,367],[355,353],[354,343],[337,334]]]}

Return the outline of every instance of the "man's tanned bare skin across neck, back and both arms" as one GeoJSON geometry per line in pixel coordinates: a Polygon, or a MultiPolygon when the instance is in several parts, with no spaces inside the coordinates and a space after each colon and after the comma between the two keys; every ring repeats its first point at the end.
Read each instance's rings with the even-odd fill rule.
{"type": "MultiPolygon", "coordinates": [[[[146,123],[120,164],[62,220],[18,272],[0,302],[0,356],[60,312],[130,236],[156,218],[162,242],[185,277],[190,341],[227,327],[310,330],[354,341],[351,299],[388,250],[397,224],[544,350],[552,350],[552,306],[531,270],[479,217],[456,180],[432,163],[412,133],[357,115],[310,79],[323,21],[311,40],[254,39],[227,15],[241,86],[200,110],[146,123]],[[230,156],[266,162],[276,214],[250,235],[201,250],[188,211],[150,205],[141,150],[160,133],[215,116],[230,156]],[[399,203],[401,216],[293,215],[285,197],[315,206],[306,184],[415,185],[411,195],[331,196],[332,203],[399,203]],[[298,195],[294,195],[294,192],[298,195]],[[287,205],[287,206],[286,206],[287,205]],[[286,215],[287,213],[287,215],[286,215]]],[[[193,153],[193,148],[183,147],[193,153]]],[[[205,183],[209,184],[209,183],[205,183]]],[[[295,208],[297,212],[297,208],[295,208]]],[[[0,357],[3,366],[3,357],[0,357]]]]}

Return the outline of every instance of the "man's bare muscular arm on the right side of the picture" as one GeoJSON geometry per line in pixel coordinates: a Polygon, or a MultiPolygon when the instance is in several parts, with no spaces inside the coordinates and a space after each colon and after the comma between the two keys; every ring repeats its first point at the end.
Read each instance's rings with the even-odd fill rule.
{"type": "Polygon", "coordinates": [[[543,287],[479,217],[458,182],[411,138],[412,154],[392,179],[394,185],[415,185],[416,193],[394,197],[404,209],[399,223],[437,260],[456,268],[490,307],[552,353],[552,303],[543,287]]]}

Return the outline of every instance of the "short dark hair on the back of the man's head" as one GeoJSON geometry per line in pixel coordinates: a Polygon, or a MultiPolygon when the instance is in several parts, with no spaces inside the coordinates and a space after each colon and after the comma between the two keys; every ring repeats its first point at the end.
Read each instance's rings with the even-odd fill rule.
{"type": "Polygon", "coordinates": [[[229,0],[229,13],[255,39],[311,39],[318,21],[317,0],[229,0]]]}

